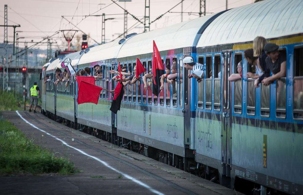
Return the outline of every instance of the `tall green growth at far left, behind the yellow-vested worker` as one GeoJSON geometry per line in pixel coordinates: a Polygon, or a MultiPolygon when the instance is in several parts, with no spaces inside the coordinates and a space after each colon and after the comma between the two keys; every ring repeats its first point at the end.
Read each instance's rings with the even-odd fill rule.
{"type": "Polygon", "coordinates": [[[22,105],[22,101],[19,101],[15,96],[13,91],[3,91],[0,90],[0,111],[12,111],[21,110],[18,104],[22,105]]]}

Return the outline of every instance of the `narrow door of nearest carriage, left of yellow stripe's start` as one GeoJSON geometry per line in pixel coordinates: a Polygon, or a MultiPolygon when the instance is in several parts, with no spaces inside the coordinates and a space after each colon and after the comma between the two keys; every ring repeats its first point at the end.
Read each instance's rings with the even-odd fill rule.
{"type": "Polygon", "coordinates": [[[232,62],[232,50],[225,50],[223,54],[222,67],[222,128],[221,128],[221,161],[222,161],[222,175],[230,176],[231,165],[231,106],[230,106],[230,82],[228,81],[230,64],[232,62]]]}

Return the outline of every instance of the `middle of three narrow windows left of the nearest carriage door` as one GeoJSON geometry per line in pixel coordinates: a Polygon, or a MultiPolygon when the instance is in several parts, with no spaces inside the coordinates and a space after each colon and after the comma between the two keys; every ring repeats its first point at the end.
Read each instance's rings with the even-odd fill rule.
{"type": "Polygon", "coordinates": [[[205,71],[205,75],[206,75],[205,108],[206,109],[211,109],[211,97],[212,97],[211,65],[212,65],[211,56],[206,56],[206,71],[205,71]]]}

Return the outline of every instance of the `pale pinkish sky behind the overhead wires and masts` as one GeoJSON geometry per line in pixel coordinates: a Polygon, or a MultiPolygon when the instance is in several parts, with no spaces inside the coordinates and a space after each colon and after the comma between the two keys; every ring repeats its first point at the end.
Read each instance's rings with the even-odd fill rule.
{"type": "MultiPolygon", "coordinates": [[[[227,8],[235,8],[253,3],[255,0],[227,0],[227,8]]],[[[199,17],[200,0],[150,0],[150,30],[173,25],[199,17]],[[180,3],[180,4],[178,4],[180,3]],[[178,4],[178,5],[177,5],[178,4]],[[177,6],[176,6],[177,5],[177,6]],[[173,8],[174,7],[174,8],[173,8]],[[173,9],[171,9],[173,8],[173,9]],[[158,16],[171,9],[160,19],[158,16]],[[181,10],[183,14],[181,17],[181,10]]],[[[8,6],[8,25],[21,25],[16,28],[19,36],[19,47],[28,47],[43,38],[50,38],[52,49],[65,49],[68,47],[66,37],[71,38],[75,33],[72,45],[79,46],[82,34],[90,36],[88,46],[102,42],[102,15],[105,14],[105,42],[118,38],[124,32],[124,9],[144,23],[145,0],[1,0],[0,24],[4,25],[4,5],[8,6]],[[113,3],[115,1],[118,5],[113,3]],[[62,17],[63,16],[63,17],[62,17]],[[111,19],[114,18],[114,19],[111,19]],[[78,31],[70,31],[78,30],[78,31]]],[[[206,0],[206,12],[216,13],[226,9],[226,0],[206,0]]],[[[202,8],[202,12],[204,8],[202,8]]],[[[142,33],[144,25],[127,15],[128,34],[142,33]]],[[[207,14],[208,15],[208,14],[207,14]]],[[[0,43],[4,42],[4,27],[0,29],[0,43]]],[[[8,41],[13,41],[13,28],[8,27],[8,41]]],[[[44,43],[32,48],[46,49],[44,43]]]]}

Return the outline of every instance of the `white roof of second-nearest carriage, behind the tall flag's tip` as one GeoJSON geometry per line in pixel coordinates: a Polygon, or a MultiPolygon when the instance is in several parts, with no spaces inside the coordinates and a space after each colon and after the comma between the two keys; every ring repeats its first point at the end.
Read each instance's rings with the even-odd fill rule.
{"type": "Polygon", "coordinates": [[[152,53],[153,40],[155,40],[159,51],[192,47],[201,26],[214,15],[207,15],[135,35],[125,41],[117,58],[152,53]]]}

